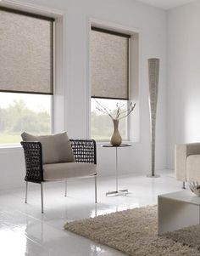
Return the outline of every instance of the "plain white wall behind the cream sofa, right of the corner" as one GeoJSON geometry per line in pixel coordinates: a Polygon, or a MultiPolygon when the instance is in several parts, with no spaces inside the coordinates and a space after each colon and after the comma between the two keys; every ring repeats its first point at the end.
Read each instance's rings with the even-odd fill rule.
{"type": "Polygon", "coordinates": [[[200,141],[200,2],[168,12],[167,162],[175,144],[200,141]]]}

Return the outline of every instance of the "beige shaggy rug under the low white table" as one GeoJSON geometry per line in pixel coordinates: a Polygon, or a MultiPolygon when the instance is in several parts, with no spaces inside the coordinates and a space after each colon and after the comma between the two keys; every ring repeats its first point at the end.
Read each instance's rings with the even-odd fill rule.
{"type": "Polygon", "coordinates": [[[200,225],[158,236],[157,206],[81,219],[67,223],[64,229],[127,255],[200,255],[200,225]]]}

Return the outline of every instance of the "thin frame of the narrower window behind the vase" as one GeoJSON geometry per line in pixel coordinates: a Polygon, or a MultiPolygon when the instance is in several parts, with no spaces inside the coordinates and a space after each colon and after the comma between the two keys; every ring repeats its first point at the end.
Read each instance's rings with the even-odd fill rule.
{"type": "MultiPolygon", "coordinates": [[[[100,31],[100,32],[104,32],[104,33],[108,33],[108,34],[111,34],[111,35],[116,35],[116,36],[119,36],[119,37],[126,37],[128,38],[128,74],[127,74],[127,79],[128,79],[128,94],[129,94],[129,99],[125,100],[125,99],[119,99],[119,98],[109,98],[109,97],[93,97],[92,96],[92,84],[91,84],[91,75],[92,75],[92,72],[91,72],[91,61],[89,60],[89,76],[90,76],[90,106],[89,106],[89,111],[90,111],[90,117],[89,117],[89,137],[92,138],[92,122],[91,122],[91,100],[92,99],[105,99],[105,100],[125,100],[127,105],[130,105],[131,103],[131,33],[127,33],[124,29],[123,30],[116,30],[115,28],[112,29],[112,27],[108,27],[108,26],[98,26],[97,24],[93,25],[92,22],[90,23],[90,26],[89,26],[89,38],[91,38],[91,31],[94,30],[94,31],[100,31]]],[[[90,52],[90,41],[91,39],[89,39],[89,56],[91,56],[91,52],[90,52]]],[[[89,58],[90,59],[90,58],[89,58]]],[[[130,122],[131,122],[131,117],[130,115],[125,118],[125,134],[126,134],[126,137],[127,139],[123,139],[123,141],[130,141],[131,138],[130,138],[130,122]]],[[[111,124],[112,125],[112,124],[111,124]]],[[[110,134],[111,135],[111,134],[110,134]]],[[[108,142],[109,139],[96,139],[97,142],[108,142]]]]}

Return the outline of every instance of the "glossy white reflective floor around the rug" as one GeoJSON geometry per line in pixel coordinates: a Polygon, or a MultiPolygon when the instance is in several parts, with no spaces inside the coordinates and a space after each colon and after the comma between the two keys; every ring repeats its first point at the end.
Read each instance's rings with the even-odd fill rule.
{"type": "Polygon", "coordinates": [[[120,177],[119,187],[131,193],[106,197],[107,191],[114,190],[114,177],[102,177],[98,178],[95,205],[93,185],[93,179],[70,180],[68,196],[64,197],[63,182],[45,184],[44,214],[39,185],[30,187],[27,204],[25,188],[0,191],[0,255],[125,255],[65,231],[65,222],[155,204],[158,194],[181,190],[181,183],[166,171],[157,179],[145,175],[120,177]]]}

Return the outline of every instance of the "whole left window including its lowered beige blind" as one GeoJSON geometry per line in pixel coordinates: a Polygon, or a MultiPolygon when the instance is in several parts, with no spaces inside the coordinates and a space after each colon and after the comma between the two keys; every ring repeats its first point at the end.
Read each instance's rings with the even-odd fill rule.
{"type": "Polygon", "coordinates": [[[52,131],[53,19],[0,7],[0,144],[52,131]]]}

